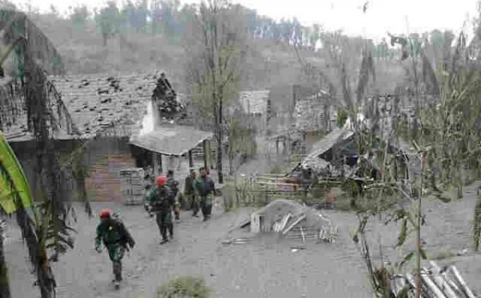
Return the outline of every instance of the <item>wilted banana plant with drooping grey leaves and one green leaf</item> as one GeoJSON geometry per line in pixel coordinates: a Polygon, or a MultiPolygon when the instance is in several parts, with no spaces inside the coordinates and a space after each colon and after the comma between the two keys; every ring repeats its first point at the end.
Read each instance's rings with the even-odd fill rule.
{"type": "MultiPolygon", "coordinates": [[[[45,191],[36,195],[35,198],[42,204],[35,207],[30,186],[20,164],[2,135],[0,205],[7,213],[15,212],[30,262],[37,275],[36,285],[42,298],[50,298],[54,297],[56,287],[50,261],[56,260],[59,253],[63,253],[66,248],[73,247],[73,240],[69,236],[72,229],[67,224],[71,207],[64,203],[59,191],[63,176],[51,141],[53,133],[57,132],[59,127],[65,125],[66,130],[72,132],[74,125],[62,98],[47,79],[47,72],[63,72],[59,53],[25,13],[0,9],[0,62],[6,61],[10,56],[17,62],[16,75],[12,82],[21,82],[23,96],[11,96],[8,99],[12,101],[12,105],[21,103],[27,112],[28,129],[37,141],[35,170],[41,188],[45,191]],[[52,106],[59,107],[58,113],[53,113],[52,106]],[[58,118],[55,118],[55,115],[58,115],[58,118]],[[53,254],[49,258],[50,251],[53,251],[53,254]]],[[[23,115],[11,116],[15,119],[23,115]]]]}

